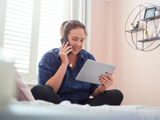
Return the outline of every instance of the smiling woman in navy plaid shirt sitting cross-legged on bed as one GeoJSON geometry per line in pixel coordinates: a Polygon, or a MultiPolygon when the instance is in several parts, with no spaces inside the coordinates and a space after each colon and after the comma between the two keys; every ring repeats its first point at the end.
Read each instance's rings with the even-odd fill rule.
{"type": "Polygon", "coordinates": [[[99,86],[75,80],[86,60],[95,60],[93,55],[82,49],[87,36],[85,26],[77,20],[65,21],[61,25],[61,36],[65,35],[69,43],[46,52],[39,63],[39,85],[31,89],[35,99],[55,104],[69,100],[91,106],[120,105],[122,93],[119,90],[106,91],[113,84],[112,75],[106,73],[108,78],[101,75],[99,81],[102,85],[99,86]],[[94,98],[89,99],[91,95],[94,98]]]}

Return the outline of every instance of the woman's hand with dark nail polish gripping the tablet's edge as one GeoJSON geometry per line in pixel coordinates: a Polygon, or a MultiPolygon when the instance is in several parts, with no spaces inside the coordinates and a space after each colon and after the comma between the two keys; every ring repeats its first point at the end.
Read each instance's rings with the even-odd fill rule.
{"type": "Polygon", "coordinates": [[[112,74],[106,73],[106,75],[108,77],[106,77],[105,75],[101,75],[99,77],[99,81],[102,83],[102,85],[99,85],[98,88],[99,88],[99,91],[101,92],[109,88],[111,85],[113,85],[113,82],[114,82],[112,77],[113,73],[112,74]]]}

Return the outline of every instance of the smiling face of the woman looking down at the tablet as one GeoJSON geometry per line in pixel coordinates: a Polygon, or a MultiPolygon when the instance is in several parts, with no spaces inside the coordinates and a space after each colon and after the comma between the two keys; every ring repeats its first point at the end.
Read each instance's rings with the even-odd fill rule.
{"type": "Polygon", "coordinates": [[[86,35],[82,28],[78,27],[76,29],[70,30],[70,33],[68,35],[68,40],[69,40],[70,46],[72,46],[72,49],[73,49],[72,54],[77,55],[79,53],[79,51],[83,47],[85,37],[86,35]]]}

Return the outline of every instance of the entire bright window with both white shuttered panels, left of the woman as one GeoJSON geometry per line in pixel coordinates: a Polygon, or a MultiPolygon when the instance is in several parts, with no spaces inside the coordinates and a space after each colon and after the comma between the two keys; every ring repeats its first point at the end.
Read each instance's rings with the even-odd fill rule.
{"type": "Polygon", "coordinates": [[[3,52],[15,60],[25,81],[37,81],[42,55],[60,47],[65,0],[7,0],[3,52]]]}

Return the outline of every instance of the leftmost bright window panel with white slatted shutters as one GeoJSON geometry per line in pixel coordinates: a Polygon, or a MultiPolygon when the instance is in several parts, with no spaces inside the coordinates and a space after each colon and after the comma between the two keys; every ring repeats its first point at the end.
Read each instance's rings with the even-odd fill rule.
{"type": "Polygon", "coordinates": [[[29,73],[32,15],[33,1],[8,0],[3,52],[15,59],[15,67],[22,73],[29,73]]]}

